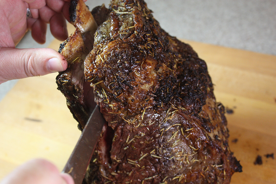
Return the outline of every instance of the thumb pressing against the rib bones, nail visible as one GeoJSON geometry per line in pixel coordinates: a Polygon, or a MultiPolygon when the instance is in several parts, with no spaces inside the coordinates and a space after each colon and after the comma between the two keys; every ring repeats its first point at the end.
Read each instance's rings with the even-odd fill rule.
{"type": "Polygon", "coordinates": [[[67,68],[66,59],[51,48],[0,48],[0,84],[46,75],[67,68]]]}

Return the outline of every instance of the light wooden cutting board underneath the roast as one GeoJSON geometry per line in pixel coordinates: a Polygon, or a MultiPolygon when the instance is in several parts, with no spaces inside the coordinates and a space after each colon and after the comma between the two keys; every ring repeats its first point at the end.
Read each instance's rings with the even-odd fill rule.
{"type": "MultiPolygon", "coordinates": [[[[276,56],[183,41],[207,62],[217,101],[233,110],[226,114],[229,145],[243,172],[231,184],[275,184],[276,159],[264,155],[276,154],[276,56]],[[262,165],[254,164],[257,155],[262,165]]],[[[56,75],[21,79],[0,102],[0,180],[32,158],[46,158],[60,171],[69,158],[81,132],[56,75]]]]}

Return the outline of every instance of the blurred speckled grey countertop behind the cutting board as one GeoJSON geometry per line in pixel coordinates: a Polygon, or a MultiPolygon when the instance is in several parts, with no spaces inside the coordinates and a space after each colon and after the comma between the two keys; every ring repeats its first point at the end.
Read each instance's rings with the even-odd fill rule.
{"type": "MultiPolygon", "coordinates": [[[[93,7],[109,0],[87,0],[93,7]]],[[[224,47],[276,55],[276,0],[146,0],[148,8],[170,35],[224,47]]],[[[48,26],[49,28],[49,26],[48,26]]],[[[17,48],[44,48],[27,33],[17,48]]],[[[202,58],[204,59],[204,58],[202,58]]],[[[276,64],[276,61],[275,61],[276,64]]],[[[0,101],[17,80],[0,85],[0,101]]]]}

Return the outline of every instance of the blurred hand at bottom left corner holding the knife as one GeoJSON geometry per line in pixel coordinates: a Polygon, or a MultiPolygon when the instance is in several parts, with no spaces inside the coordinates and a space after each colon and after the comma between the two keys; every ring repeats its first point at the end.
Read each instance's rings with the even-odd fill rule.
{"type": "Polygon", "coordinates": [[[33,159],[17,167],[0,184],[74,184],[69,174],[44,159],[33,159]]]}

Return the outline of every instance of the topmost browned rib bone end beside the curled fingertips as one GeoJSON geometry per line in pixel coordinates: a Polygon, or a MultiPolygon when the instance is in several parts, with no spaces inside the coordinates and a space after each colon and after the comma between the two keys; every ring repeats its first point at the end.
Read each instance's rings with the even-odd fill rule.
{"type": "Polygon", "coordinates": [[[91,31],[91,33],[94,34],[96,32],[98,25],[82,0],[72,0],[69,12],[70,22],[75,27],[79,28],[81,33],[91,31]]]}

